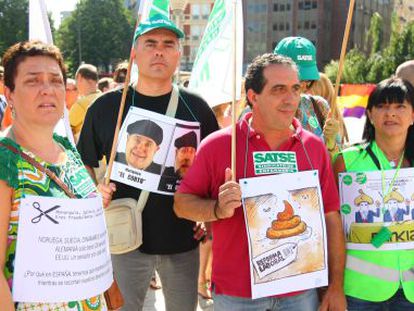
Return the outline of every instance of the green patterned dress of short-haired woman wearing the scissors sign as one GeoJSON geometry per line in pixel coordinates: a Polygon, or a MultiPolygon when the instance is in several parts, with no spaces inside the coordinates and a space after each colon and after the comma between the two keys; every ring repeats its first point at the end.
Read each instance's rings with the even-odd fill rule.
{"type": "MultiPolygon", "coordinates": [[[[2,137],[0,138],[0,142],[5,145],[13,146],[20,152],[25,152],[26,154],[34,157],[36,161],[49,168],[60,179],[62,179],[78,198],[86,198],[96,194],[96,187],[85,169],[76,149],[67,139],[63,137],[55,135],[53,138],[66,151],[67,160],[63,164],[55,165],[47,163],[23,149],[9,138],[2,137]]],[[[12,288],[18,230],[18,215],[21,199],[27,195],[55,198],[67,198],[67,196],[64,191],[46,174],[38,171],[30,163],[26,162],[20,156],[15,155],[13,152],[4,147],[0,147],[0,180],[4,180],[11,188],[14,189],[11,218],[8,229],[6,264],[4,268],[4,275],[10,288],[12,288]]],[[[107,307],[103,295],[99,295],[83,301],[73,301],[67,303],[19,302],[16,310],[103,311],[107,310],[107,307]]]]}

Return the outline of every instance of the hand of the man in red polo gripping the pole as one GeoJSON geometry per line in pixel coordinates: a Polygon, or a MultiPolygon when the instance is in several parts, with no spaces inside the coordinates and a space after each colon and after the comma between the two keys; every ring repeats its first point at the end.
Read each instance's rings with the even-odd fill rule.
{"type": "Polygon", "coordinates": [[[226,168],[224,184],[219,188],[219,194],[215,207],[216,216],[219,219],[230,218],[234,215],[234,210],[241,206],[240,185],[232,181],[232,171],[226,168]]]}

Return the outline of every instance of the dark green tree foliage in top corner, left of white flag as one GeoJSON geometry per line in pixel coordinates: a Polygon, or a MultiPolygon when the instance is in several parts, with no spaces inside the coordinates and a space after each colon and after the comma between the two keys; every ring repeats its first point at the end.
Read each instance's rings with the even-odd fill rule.
{"type": "Polygon", "coordinates": [[[0,57],[16,42],[28,39],[28,0],[0,0],[0,57]]]}

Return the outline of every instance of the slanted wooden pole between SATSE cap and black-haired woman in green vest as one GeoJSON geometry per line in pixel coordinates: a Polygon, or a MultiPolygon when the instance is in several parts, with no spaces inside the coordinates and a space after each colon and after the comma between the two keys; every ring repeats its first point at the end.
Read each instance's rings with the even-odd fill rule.
{"type": "MultiPolygon", "coordinates": [[[[339,87],[341,83],[341,77],[342,77],[342,71],[344,68],[344,62],[345,62],[345,56],[346,56],[346,47],[348,45],[348,39],[349,39],[349,33],[351,30],[351,24],[352,24],[352,17],[354,15],[354,6],[355,6],[355,0],[351,0],[349,3],[349,9],[348,9],[348,16],[346,19],[346,25],[345,25],[345,32],[344,32],[344,38],[342,40],[342,48],[341,48],[341,56],[339,58],[339,64],[338,64],[338,74],[336,75],[336,81],[335,81],[335,96],[333,98],[333,101],[331,104],[331,110],[333,112],[333,116],[335,119],[338,119],[340,116],[338,106],[336,104],[337,98],[339,96],[339,87]]],[[[345,130],[345,136],[348,140],[348,133],[345,130]]]]}

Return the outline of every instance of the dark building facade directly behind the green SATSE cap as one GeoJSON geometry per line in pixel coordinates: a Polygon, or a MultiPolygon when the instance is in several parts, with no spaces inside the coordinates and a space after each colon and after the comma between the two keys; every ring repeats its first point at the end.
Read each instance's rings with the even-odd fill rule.
{"type": "Polygon", "coordinates": [[[245,63],[273,51],[288,36],[301,36],[317,47],[320,70],[338,58],[345,28],[346,0],[243,0],[245,63]],[[333,18],[335,17],[335,18],[333,18]],[[337,48],[339,47],[339,48],[337,48]]]}

